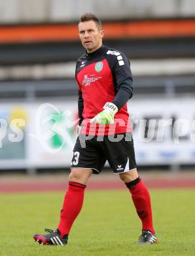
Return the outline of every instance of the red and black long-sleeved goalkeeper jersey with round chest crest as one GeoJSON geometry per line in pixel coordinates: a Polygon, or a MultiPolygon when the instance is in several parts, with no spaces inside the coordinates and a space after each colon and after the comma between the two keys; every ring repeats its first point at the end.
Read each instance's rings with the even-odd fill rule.
{"type": "Polygon", "coordinates": [[[78,60],[75,77],[79,85],[79,125],[86,135],[114,135],[132,131],[126,102],[133,95],[130,62],[124,53],[102,45],[78,60]],[[118,107],[113,125],[90,124],[106,102],[118,107]]]}

